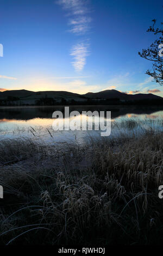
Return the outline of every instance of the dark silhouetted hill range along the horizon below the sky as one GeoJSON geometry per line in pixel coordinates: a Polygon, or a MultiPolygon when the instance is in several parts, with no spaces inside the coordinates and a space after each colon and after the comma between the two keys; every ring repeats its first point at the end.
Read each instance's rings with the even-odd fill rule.
{"type": "Polygon", "coordinates": [[[16,101],[21,102],[21,104],[34,105],[38,101],[42,99],[52,99],[55,102],[61,102],[61,100],[66,100],[70,102],[72,100],[76,102],[91,100],[111,100],[111,99],[119,99],[121,101],[135,101],[135,100],[156,100],[163,99],[160,96],[154,95],[152,93],[149,94],[126,94],[118,92],[117,90],[103,90],[98,93],[86,93],[86,94],[77,94],[70,93],[65,91],[45,91],[45,92],[32,92],[29,90],[6,90],[4,92],[0,92],[0,100],[13,100],[15,97],[16,101]]]}

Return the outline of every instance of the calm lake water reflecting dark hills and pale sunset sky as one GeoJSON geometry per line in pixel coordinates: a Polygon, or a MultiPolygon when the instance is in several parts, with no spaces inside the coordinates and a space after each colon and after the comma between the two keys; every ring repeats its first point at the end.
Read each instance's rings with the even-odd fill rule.
{"type": "MultiPolygon", "coordinates": [[[[140,106],[71,106],[71,111],[111,111],[112,129],[111,135],[140,131],[140,126],[145,129],[162,130],[163,108],[140,106]],[[125,121],[135,120],[140,126],[125,126],[125,121]],[[121,125],[114,125],[121,124],[121,125]],[[132,128],[132,129],[131,129],[132,128]]],[[[0,108],[0,138],[16,138],[28,136],[41,138],[45,141],[83,142],[89,136],[99,136],[100,131],[53,131],[52,114],[54,111],[62,111],[63,106],[50,107],[1,107],[0,108]],[[48,130],[47,130],[48,129],[48,130]],[[49,132],[51,132],[51,136],[49,132]]]]}

